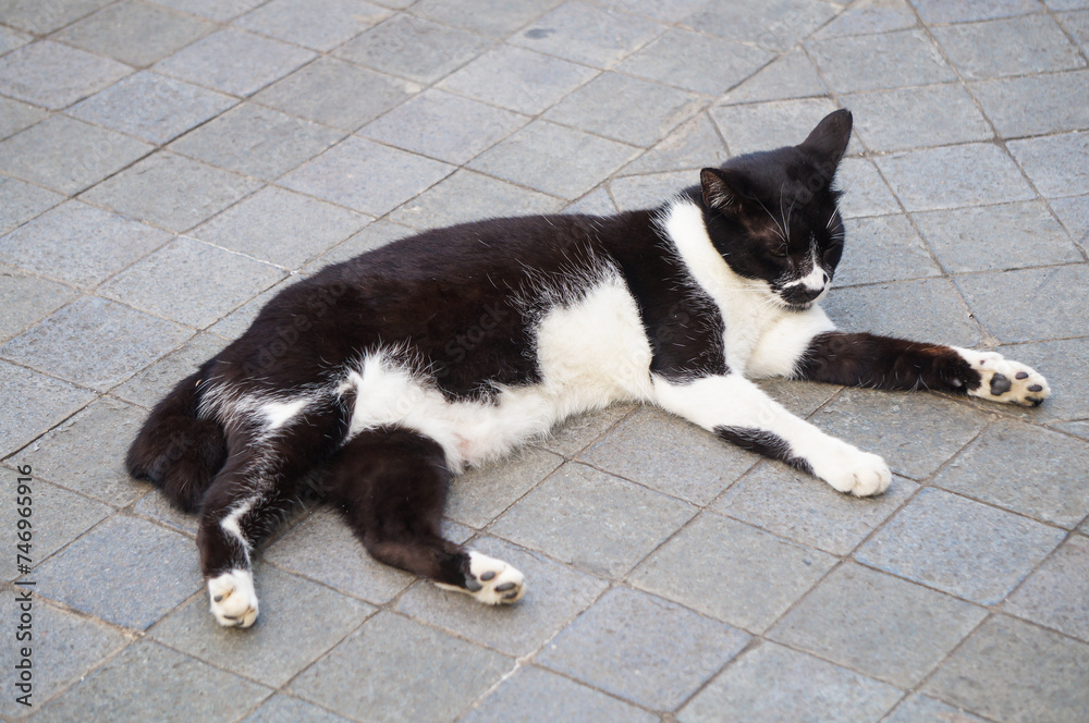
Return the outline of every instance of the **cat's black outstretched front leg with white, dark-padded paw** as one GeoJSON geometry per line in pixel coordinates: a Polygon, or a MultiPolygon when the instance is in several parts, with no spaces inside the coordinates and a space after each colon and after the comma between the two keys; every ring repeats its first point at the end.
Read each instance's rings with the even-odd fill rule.
{"type": "Polygon", "coordinates": [[[841,331],[810,339],[787,376],[849,387],[928,389],[1023,406],[1036,406],[1051,392],[1039,372],[994,352],[841,331]]]}

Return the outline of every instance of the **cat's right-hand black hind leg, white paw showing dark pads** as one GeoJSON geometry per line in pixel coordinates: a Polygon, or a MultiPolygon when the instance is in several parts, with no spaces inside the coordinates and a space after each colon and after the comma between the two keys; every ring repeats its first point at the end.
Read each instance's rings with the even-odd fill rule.
{"type": "Polygon", "coordinates": [[[517,602],[517,569],[444,539],[440,530],[452,474],[442,448],[401,428],[362,432],[333,457],[332,502],[372,557],[487,604],[517,602]]]}

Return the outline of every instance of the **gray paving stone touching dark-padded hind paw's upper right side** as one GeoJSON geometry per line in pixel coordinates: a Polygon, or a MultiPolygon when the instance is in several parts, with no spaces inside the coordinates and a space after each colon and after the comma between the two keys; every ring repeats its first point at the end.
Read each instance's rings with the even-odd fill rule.
{"type": "Polygon", "coordinates": [[[490,528],[597,575],[635,566],[696,508],[579,464],[565,464],[490,528]]]}

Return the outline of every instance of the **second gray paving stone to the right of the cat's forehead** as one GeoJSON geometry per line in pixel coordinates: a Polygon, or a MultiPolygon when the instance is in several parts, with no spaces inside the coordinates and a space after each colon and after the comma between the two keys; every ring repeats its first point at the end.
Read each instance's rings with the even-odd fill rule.
{"type": "Polygon", "coordinates": [[[893,154],[878,157],[877,164],[909,211],[1036,197],[1010,157],[991,144],[893,154]]]}

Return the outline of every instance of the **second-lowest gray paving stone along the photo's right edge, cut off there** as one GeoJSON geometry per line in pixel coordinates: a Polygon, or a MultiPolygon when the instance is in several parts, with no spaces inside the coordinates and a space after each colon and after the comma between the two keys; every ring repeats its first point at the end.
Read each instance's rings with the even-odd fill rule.
{"type": "Polygon", "coordinates": [[[1002,609],[1089,641],[1086,599],[1089,599],[1089,540],[1072,535],[1002,609]]]}

